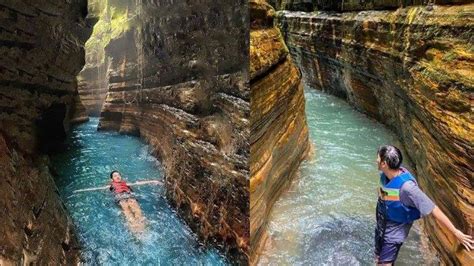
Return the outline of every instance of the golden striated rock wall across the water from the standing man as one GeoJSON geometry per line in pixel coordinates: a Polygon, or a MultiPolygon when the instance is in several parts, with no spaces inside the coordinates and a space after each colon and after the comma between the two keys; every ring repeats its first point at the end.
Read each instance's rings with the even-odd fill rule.
{"type": "Polygon", "coordinates": [[[265,1],[250,1],[251,264],[265,242],[270,210],[309,147],[301,75],[273,25],[274,14],[265,1]]]}

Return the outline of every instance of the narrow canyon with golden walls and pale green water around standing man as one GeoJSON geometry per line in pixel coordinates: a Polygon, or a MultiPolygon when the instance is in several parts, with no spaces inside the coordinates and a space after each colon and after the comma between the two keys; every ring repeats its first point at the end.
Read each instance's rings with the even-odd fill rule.
{"type": "MultiPolygon", "coordinates": [[[[251,108],[251,263],[373,263],[375,159],[387,143],[400,144],[420,187],[472,235],[474,6],[254,0],[250,9],[251,102],[267,103],[251,108]],[[288,90],[299,73],[300,89],[288,90]],[[295,100],[303,84],[306,118],[295,100]],[[307,126],[288,122],[297,117],[307,126]],[[271,140],[254,137],[262,125],[271,140]]],[[[474,263],[432,217],[414,227],[399,263],[474,263]]]]}

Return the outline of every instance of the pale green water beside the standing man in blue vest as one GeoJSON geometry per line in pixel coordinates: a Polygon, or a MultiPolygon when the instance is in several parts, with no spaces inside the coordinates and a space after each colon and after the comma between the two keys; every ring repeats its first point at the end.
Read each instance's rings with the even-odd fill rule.
{"type": "MultiPolygon", "coordinates": [[[[260,264],[374,265],[376,152],[399,142],[341,99],[311,88],[305,97],[314,155],[272,210],[260,264]]],[[[416,223],[397,265],[434,263],[422,238],[416,223]]]]}

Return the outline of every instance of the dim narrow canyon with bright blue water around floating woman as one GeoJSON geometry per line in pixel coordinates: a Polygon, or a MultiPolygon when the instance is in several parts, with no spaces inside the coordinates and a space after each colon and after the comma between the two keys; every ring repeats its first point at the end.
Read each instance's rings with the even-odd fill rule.
{"type": "Polygon", "coordinates": [[[0,12],[0,264],[246,264],[246,2],[0,12]],[[152,231],[140,243],[108,191],[74,193],[113,169],[164,183],[135,189],[152,231]]]}

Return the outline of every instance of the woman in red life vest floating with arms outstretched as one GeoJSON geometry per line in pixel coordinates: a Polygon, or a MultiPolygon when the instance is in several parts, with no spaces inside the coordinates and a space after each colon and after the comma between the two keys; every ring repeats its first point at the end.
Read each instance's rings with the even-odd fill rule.
{"type": "Polygon", "coordinates": [[[143,233],[145,229],[146,220],[142,214],[140,205],[138,205],[138,202],[135,198],[135,195],[133,194],[133,190],[130,187],[130,185],[137,185],[137,186],[146,185],[146,184],[162,185],[163,183],[159,180],[144,180],[144,181],[131,183],[129,185],[127,184],[127,182],[122,180],[122,176],[117,170],[114,170],[110,173],[110,179],[112,179],[112,182],[110,182],[109,186],[79,189],[79,190],[75,190],[74,193],[104,190],[107,188],[110,189],[110,191],[114,193],[115,201],[122,208],[122,211],[125,215],[125,219],[127,220],[130,230],[135,234],[143,233]]]}

